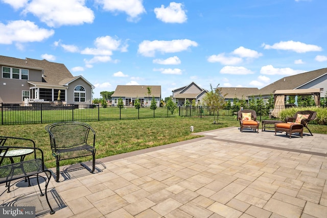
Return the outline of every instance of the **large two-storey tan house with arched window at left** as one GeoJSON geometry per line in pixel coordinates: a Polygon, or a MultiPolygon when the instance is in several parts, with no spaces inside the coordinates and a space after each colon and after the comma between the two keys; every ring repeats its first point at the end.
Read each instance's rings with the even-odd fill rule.
{"type": "Polygon", "coordinates": [[[0,56],[0,67],[0,103],[92,103],[95,87],[82,76],[74,77],[64,64],[0,56]]]}

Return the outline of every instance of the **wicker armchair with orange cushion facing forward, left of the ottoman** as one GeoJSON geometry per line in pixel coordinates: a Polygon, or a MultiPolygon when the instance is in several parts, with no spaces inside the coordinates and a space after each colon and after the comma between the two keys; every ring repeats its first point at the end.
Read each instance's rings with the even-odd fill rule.
{"type": "Polygon", "coordinates": [[[239,110],[238,119],[240,120],[241,132],[244,128],[251,128],[254,132],[259,133],[260,122],[256,121],[255,110],[239,110]]]}

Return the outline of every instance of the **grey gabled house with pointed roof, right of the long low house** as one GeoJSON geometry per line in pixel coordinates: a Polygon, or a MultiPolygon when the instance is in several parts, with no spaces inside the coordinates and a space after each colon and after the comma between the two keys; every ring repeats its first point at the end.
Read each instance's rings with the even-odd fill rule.
{"type": "Polygon", "coordinates": [[[189,100],[192,104],[192,101],[196,101],[196,105],[201,105],[203,102],[203,97],[208,91],[201,88],[195,82],[190,83],[187,86],[183,86],[173,91],[173,101],[179,105],[183,106],[186,100],[189,100]]]}

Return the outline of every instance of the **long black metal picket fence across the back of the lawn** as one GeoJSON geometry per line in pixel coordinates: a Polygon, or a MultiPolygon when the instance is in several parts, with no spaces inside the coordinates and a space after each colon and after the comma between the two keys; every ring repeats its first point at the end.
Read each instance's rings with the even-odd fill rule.
{"type": "MultiPolygon", "coordinates": [[[[256,111],[257,119],[274,119],[271,116],[272,108],[265,106],[244,107],[256,111]]],[[[229,107],[213,111],[209,107],[180,106],[171,113],[168,107],[150,107],[136,109],[133,106],[101,107],[99,105],[51,105],[46,103],[33,104],[5,104],[1,103],[1,124],[42,124],[66,121],[94,122],[120,119],[144,119],[160,117],[198,117],[212,120],[237,120],[239,107],[229,107]]]]}

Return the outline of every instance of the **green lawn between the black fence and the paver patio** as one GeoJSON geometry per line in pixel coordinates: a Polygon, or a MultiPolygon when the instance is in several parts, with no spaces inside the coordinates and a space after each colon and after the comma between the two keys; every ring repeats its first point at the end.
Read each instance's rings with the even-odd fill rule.
{"type": "MultiPolygon", "coordinates": [[[[194,126],[194,132],[231,126],[239,127],[237,120],[219,120],[217,125],[213,124],[212,119],[188,117],[110,120],[87,123],[96,131],[96,158],[199,137],[191,135],[190,126],[194,126]]],[[[46,166],[54,167],[55,158],[51,153],[49,135],[44,129],[45,126],[46,124],[2,125],[0,126],[0,135],[33,139],[36,147],[43,150],[46,166]]],[[[327,134],[326,125],[310,125],[310,130],[313,133],[327,134]]],[[[79,161],[89,159],[87,157],[79,161]]],[[[61,161],[61,165],[76,161],[76,159],[61,161]]]]}

